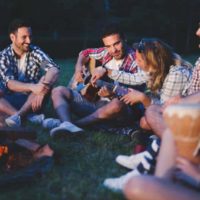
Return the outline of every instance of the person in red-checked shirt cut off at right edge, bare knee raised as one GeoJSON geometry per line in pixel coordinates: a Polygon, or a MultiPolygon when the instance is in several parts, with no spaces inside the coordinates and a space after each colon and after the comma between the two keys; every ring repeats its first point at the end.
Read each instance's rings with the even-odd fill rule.
{"type": "MultiPolygon", "coordinates": [[[[200,23],[199,27],[196,31],[197,37],[200,38],[200,23]]],[[[164,120],[163,120],[163,110],[165,107],[169,106],[170,104],[177,104],[177,103],[200,103],[200,57],[197,59],[192,79],[189,83],[189,87],[186,92],[186,96],[183,98],[181,95],[175,96],[170,98],[165,102],[163,106],[161,105],[151,105],[148,107],[148,109],[145,112],[145,116],[141,119],[141,127],[143,129],[152,130],[154,134],[156,134],[158,137],[162,138],[163,131],[167,128],[164,120]],[[192,95],[193,94],[193,95],[192,95]],[[189,95],[189,96],[188,96],[189,95]]],[[[137,155],[119,155],[116,158],[116,161],[129,169],[133,169],[134,166],[138,164],[138,162],[141,161],[141,159],[146,157],[152,157],[147,151],[144,151],[142,153],[139,153],[137,155]]]]}

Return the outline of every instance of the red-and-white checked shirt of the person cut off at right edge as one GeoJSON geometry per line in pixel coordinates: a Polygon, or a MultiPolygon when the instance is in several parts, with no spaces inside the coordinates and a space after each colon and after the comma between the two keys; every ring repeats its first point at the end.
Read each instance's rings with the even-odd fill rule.
{"type": "Polygon", "coordinates": [[[200,91],[200,57],[196,61],[193,69],[192,81],[188,89],[188,94],[193,94],[197,91],[200,91]]]}

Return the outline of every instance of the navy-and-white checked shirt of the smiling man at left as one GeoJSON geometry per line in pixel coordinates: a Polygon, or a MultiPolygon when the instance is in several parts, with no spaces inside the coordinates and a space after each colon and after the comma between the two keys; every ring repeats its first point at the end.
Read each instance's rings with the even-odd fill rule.
{"type": "Polygon", "coordinates": [[[0,78],[6,89],[8,89],[7,82],[9,80],[37,83],[41,78],[40,70],[47,71],[51,67],[59,68],[39,47],[31,45],[26,55],[25,77],[23,80],[19,80],[18,59],[12,45],[0,52],[0,78]]]}

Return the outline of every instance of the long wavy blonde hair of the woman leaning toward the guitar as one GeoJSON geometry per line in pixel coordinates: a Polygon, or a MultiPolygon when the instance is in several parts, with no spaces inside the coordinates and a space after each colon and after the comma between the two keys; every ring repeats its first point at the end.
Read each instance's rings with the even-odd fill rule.
{"type": "Polygon", "coordinates": [[[161,89],[172,65],[191,66],[183,61],[178,54],[175,54],[168,44],[157,38],[142,39],[137,45],[136,50],[141,53],[149,67],[151,78],[147,85],[154,92],[161,89]]]}

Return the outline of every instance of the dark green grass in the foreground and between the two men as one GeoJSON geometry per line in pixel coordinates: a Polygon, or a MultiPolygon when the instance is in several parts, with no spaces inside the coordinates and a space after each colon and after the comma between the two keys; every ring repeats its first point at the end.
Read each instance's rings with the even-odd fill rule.
{"type": "MultiPolygon", "coordinates": [[[[75,60],[58,60],[61,77],[58,85],[71,78],[75,60]]],[[[50,104],[47,113],[54,115],[50,104]]],[[[127,136],[86,130],[81,137],[52,139],[48,131],[37,128],[38,142],[50,144],[59,154],[53,169],[30,185],[0,190],[1,200],[121,200],[102,185],[105,178],[126,173],[114,159],[118,154],[130,154],[134,141],[127,136]]]]}

